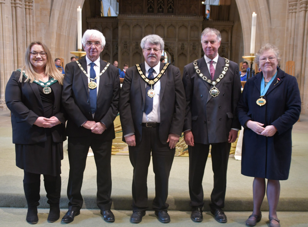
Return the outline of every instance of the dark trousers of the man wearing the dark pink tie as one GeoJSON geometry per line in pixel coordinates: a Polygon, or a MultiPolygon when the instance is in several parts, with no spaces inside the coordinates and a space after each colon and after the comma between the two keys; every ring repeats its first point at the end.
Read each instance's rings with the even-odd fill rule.
{"type": "MultiPolygon", "coordinates": [[[[211,193],[211,209],[225,206],[227,185],[227,167],[231,144],[228,142],[211,144],[212,169],[214,173],[214,187],[211,193]]],[[[188,146],[189,154],[189,195],[190,205],[193,208],[202,208],[203,188],[202,179],[206,160],[209,155],[209,144],[188,146]]]]}

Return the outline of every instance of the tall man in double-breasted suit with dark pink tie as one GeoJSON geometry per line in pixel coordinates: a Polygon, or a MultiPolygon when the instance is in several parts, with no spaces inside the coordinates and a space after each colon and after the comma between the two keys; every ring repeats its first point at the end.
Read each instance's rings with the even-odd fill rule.
{"type": "Polygon", "coordinates": [[[236,106],[241,95],[241,81],[236,63],[218,55],[220,32],[206,28],[201,34],[205,56],[184,67],[186,93],[184,140],[189,152],[189,194],[191,219],[203,220],[202,179],[211,148],[214,188],[210,208],[215,219],[227,222],[225,205],[226,175],[230,145],[241,127],[236,106]],[[213,76],[213,77],[212,77],[213,76]]]}

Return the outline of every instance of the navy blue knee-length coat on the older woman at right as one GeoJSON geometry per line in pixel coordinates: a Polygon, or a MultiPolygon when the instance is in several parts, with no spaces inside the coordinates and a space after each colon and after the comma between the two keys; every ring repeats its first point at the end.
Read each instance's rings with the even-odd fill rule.
{"type": "Polygon", "coordinates": [[[294,76],[278,69],[276,78],[263,97],[266,104],[258,106],[263,73],[247,80],[237,105],[238,118],[245,127],[248,120],[274,125],[278,132],[266,137],[245,127],[242,146],[241,173],[245,176],[286,180],[291,164],[292,126],[301,112],[301,98],[294,76]],[[279,80],[278,80],[279,79],[279,80]],[[277,83],[278,81],[278,83],[277,83]]]}

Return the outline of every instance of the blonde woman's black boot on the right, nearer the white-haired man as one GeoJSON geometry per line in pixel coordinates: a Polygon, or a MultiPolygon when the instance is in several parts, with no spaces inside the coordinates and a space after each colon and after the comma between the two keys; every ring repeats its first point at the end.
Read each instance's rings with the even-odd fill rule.
{"type": "Polygon", "coordinates": [[[50,205],[47,221],[55,222],[60,217],[60,196],[61,196],[61,176],[56,176],[55,180],[44,180],[47,192],[47,203],[50,205]]]}

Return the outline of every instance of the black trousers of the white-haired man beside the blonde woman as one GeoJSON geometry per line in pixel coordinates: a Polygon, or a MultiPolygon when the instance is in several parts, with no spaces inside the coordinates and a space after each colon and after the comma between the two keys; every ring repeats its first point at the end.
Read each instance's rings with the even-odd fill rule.
{"type": "Polygon", "coordinates": [[[95,140],[91,136],[68,137],[70,173],[67,185],[68,209],[79,211],[83,204],[81,186],[89,148],[96,164],[97,199],[99,209],[111,208],[111,146],[112,140],[95,140]]]}

